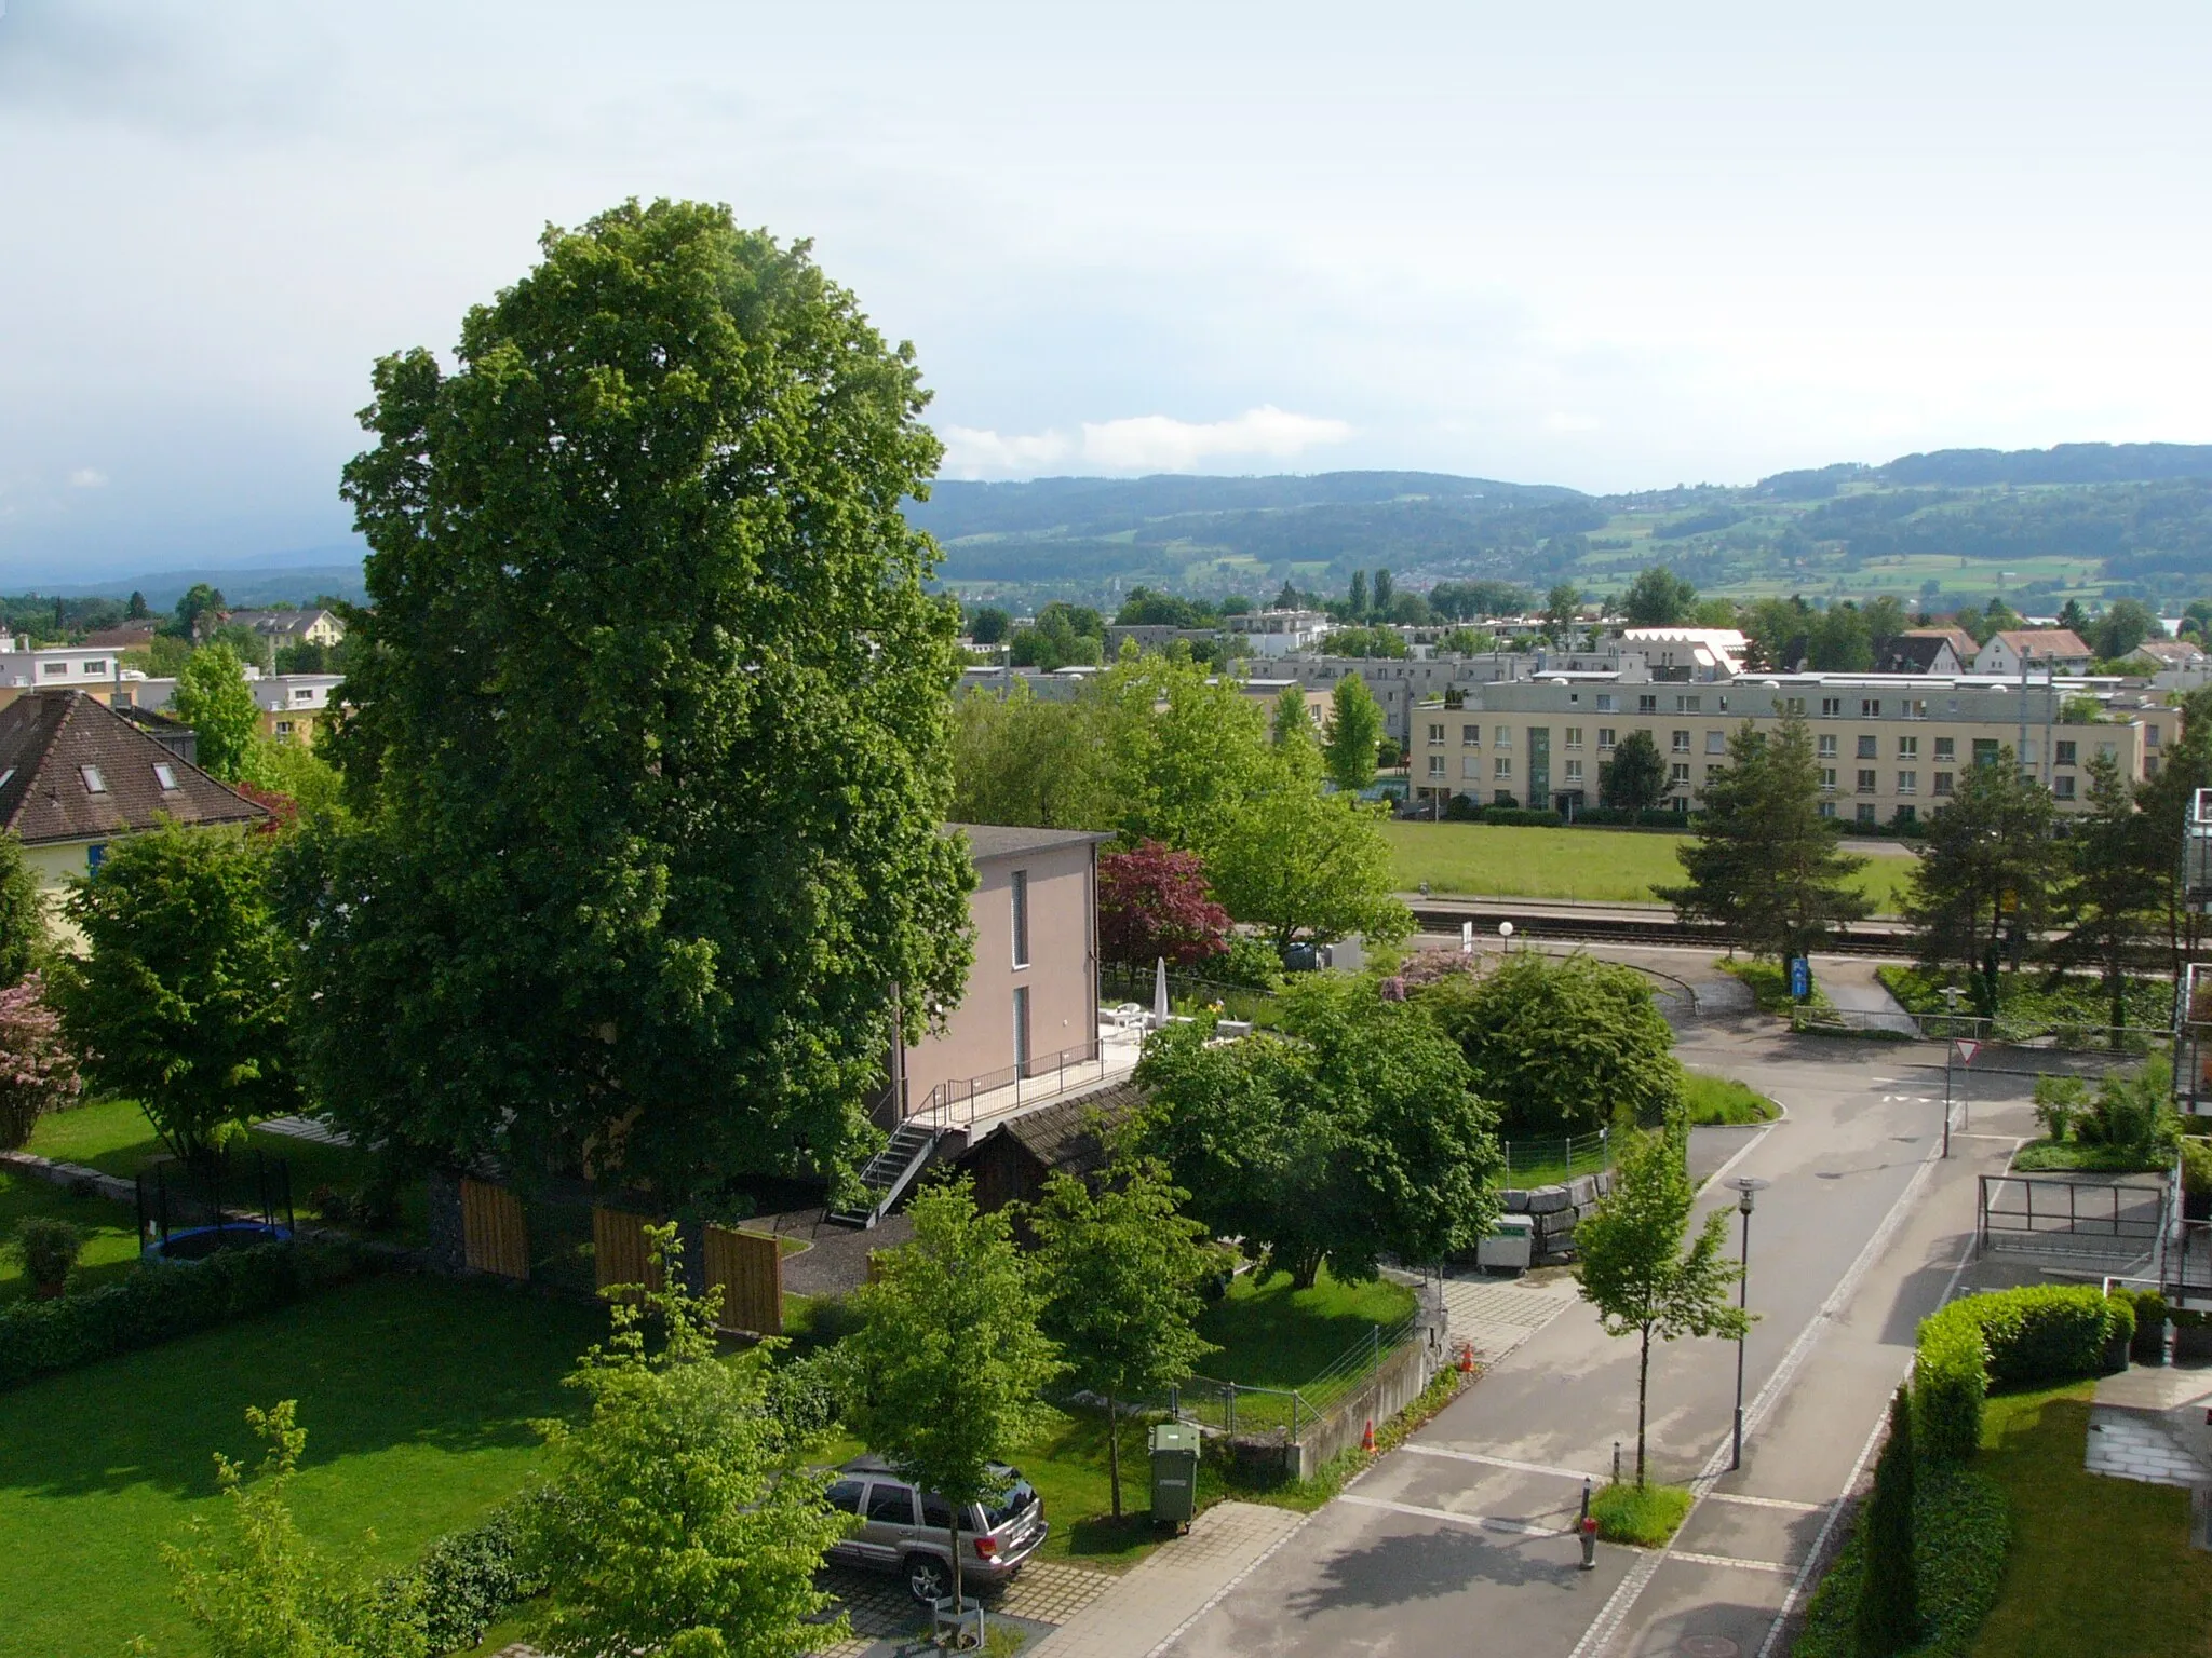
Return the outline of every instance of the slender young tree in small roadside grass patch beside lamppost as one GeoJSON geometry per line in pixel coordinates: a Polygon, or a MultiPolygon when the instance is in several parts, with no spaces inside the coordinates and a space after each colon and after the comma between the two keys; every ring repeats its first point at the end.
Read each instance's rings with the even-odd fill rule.
{"type": "Polygon", "coordinates": [[[1690,1130],[1672,1114],[1657,1134],[1621,1147],[1613,1192],[1575,1227],[1582,1298],[1606,1335],[1637,1337],[1637,1486],[1644,1483],[1644,1417],[1650,1404],[1652,1340],[1734,1337],[1750,1320],[1728,1304],[1736,1265],[1728,1258],[1728,1209],[1710,1209],[1690,1236],[1697,1185],[1683,1152],[1690,1130]]]}

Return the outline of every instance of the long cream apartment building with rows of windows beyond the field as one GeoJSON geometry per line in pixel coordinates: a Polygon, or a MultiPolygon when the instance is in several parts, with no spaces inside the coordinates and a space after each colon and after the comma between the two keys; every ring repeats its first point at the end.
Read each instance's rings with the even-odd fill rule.
{"type": "Polygon", "coordinates": [[[1690,811],[1728,765],[1743,721],[1801,714],[1814,730],[1820,809],[1860,827],[1936,811],[1964,767],[2002,749],[2079,811],[2088,763],[2157,776],[2179,710],[2154,694],[2044,679],[1920,679],[1900,674],[1778,674],[1730,683],[1546,674],[1469,688],[1462,705],[1416,707],[1413,798],[1571,811],[1597,805],[1597,776],[1630,732],[1650,732],[1668,765],[1668,805],[1690,811]],[[2095,696],[2101,721],[2068,723],[2068,699],[2095,696]]]}

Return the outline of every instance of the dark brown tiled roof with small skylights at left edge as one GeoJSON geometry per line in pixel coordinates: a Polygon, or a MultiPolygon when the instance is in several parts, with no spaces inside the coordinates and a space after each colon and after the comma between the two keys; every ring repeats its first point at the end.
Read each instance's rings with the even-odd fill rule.
{"type": "Polygon", "coordinates": [[[0,707],[0,827],[24,844],[97,840],[188,825],[261,822],[270,814],[84,692],[24,692],[0,707]],[[168,767],[164,789],[155,767],[168,767]],[[93,791],[84,769],[104,785],[93,791]]]}

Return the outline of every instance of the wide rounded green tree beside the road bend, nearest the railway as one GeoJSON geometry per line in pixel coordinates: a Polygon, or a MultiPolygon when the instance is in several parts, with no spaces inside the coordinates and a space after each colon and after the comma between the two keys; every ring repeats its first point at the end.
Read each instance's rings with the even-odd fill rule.
{"type": "Polygon", "coordinates": [[[1511,1134],[1588,1134],[1681,1103],[1674,1030],[1635,968],[1588,955],[1509,955],[1484,979],[1420,993],[1511,1134]]]}

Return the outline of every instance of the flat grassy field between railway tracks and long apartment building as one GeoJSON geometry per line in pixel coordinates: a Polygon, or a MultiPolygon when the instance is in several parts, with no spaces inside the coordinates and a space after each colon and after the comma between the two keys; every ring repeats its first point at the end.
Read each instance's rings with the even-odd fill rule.
{"type": "MultiPolygon", "coordinates": [[[[1681,880],[1674,849],[1688,836],[1639,829],[1517,829],[1489,822],[1387,822],[1400,891],[1469,898],[1573,898],[1650,904],[1652,884],[1681,880]]],[[[1845,842],[1845,851],[1849,851],[1845,842]]],[[[1860,889],[1880,915],[1896,915],[1911,858],[1871,853],[1860,889]]]]}

